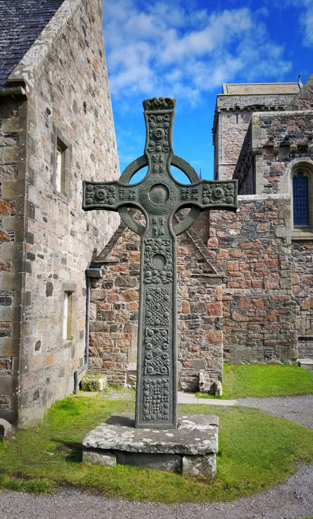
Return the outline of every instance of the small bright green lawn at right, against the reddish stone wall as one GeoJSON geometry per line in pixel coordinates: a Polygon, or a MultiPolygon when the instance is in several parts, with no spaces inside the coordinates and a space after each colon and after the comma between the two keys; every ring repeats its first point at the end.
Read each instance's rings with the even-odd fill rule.
{"type": "MultiPolygon", "coordinates": [[[[313,394],[313,373],[298,366],[224,364],[221,399],[313,394]]],[[[216,398],[196,393],[198,398],[216,398]]]]}

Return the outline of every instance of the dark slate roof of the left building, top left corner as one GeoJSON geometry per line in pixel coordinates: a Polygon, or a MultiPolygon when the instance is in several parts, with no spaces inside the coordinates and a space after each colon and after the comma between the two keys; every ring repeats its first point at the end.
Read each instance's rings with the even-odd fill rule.
{"type": "Polygon", "coordinates": [[[64,0],[0,0],[0,87],[64,0]]]}

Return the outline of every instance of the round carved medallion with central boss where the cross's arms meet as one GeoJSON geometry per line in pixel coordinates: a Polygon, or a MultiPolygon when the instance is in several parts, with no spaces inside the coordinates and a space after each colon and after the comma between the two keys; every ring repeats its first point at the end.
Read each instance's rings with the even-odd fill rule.
{"type": "Polygon", "coordinates": [[[179,193],[168,176],[147,179],[139,192],[139,200],[144,209],[152,214],[168,213],[178,200],[179,193]]]}

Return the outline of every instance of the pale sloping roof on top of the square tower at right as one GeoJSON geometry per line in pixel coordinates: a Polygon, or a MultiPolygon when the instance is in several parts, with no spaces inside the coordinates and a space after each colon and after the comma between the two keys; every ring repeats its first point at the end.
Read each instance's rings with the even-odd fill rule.
{"type": "Polygon", "coordinates": [[[224,83],[223,94],[296,94],[299,83],[224,83]]]}

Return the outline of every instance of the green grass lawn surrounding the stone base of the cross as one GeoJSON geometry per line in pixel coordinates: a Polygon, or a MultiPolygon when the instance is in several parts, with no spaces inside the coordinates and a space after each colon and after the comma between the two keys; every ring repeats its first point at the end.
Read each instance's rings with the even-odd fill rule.
{"type": "Polygon", "coordinates": [[[212,502],[247,496],[276,485],[313,461],[313,431],[254,408],[179,406],[181,414],[220,417],[217,476],[213,481],[145,468],[81,463],[84,436],[130,400],[68,397],[52,405],[38,426],[0,442],[0,487],[51,492],[61,485],[130,500],[212,502]],[[51,455],[52,454],[52,455],[51,455]]]}

